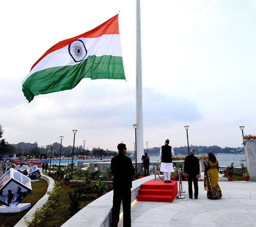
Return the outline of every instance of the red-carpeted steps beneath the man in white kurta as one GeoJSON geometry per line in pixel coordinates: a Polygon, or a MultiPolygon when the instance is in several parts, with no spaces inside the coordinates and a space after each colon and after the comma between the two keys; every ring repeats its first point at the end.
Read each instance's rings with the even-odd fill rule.
{"type": "Polygon", "coordinates": [[[177,181],[147,181],[141,185],[137,201],[154,201],[172,203],[178,193],[177,181]]]}

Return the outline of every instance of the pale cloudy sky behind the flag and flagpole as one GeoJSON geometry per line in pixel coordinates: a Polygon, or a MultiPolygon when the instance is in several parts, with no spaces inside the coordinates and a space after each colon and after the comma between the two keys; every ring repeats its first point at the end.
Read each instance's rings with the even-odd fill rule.
{"type": "MultiPolygon", "coordinates": [[[[0,124],[3,138],[46,146],[134,150],[136,1],[1,2],[0,124]],[[22,81],[54,44],[119,13],[125,80],[83,79],[28,103],[22,81]]],[[[241,147],[256,134],[256,1],[141,0],[144,148],[241,147]]]]}

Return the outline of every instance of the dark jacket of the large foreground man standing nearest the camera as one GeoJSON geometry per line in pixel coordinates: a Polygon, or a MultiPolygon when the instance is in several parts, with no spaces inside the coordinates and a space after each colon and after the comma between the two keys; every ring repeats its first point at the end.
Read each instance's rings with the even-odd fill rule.
{"type": "Polygon", "coordinates": [[[132,188],[134,167],[130,158],[120,153],[112,158],[111,172],[114,175],[113,189],[132,188]]]}

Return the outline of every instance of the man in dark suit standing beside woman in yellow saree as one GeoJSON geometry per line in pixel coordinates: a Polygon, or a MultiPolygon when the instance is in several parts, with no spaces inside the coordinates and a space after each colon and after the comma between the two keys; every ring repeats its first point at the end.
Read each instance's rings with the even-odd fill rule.
{"type": "Polygon", "coordinates": [[[188,195],[189,198],[193,198],[193,189],[192,189],[192,182],[194,184],[195,189],[195,199],[198,198],[198,179],[200,174],[200,165],[199,160],[197,157],[194,156],[196,151],[191,149],[189,155],[185,157],[184,162],[184,172],[187,175],[188,179],[188,195]]]}

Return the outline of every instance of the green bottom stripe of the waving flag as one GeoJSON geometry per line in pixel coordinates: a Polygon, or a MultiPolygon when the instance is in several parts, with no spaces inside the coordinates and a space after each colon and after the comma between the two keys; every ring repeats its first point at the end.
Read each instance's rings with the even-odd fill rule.
{"type": "Polygon", "coordinates": [[[30,75],[22,90],[31,102],[38,94],[70,90],[83,78],[125,80],[122,57],[89,56],[76,65],[44,69],[30,75]]]}

